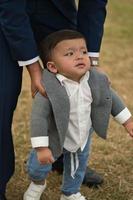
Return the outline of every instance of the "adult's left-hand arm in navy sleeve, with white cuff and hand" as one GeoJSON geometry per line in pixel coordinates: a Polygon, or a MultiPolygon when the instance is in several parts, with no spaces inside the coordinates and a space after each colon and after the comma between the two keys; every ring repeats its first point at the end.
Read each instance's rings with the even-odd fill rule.
{"type": "Polygon", "coordinates": [[[41,66],[33,32],[26,14],[25,0],[0,0],[0,28],[7,42],[12,59],[20,66],[27,65],[31,77],[32,93],[41,85],[41,66]]]}

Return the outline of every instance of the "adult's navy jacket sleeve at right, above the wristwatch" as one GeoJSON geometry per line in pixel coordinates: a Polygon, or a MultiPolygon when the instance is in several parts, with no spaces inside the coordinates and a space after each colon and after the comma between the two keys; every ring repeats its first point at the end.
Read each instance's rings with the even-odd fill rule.
{"type": "Polygon", "coordinates": [[[80,0],[77,26],[87,40],[89,52],[99,52],[106,18],[107,0],[80,0]]]}

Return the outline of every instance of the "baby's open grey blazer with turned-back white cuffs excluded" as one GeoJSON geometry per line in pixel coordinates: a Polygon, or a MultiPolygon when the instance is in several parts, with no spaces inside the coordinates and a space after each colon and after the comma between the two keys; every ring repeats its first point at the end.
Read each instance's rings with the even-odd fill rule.
{"type": "MultiPolygon", "coordinates": [[[[44,70],[43,84],[48,98],[39,93],[33,100],[31,138],[48,136],[53,155],[62,153],[68,129],[70,104],[64,86],[54,74],[44,70]]],[[[120,97],[109,86],[107,77],[97,70],[90,70],[88,84],[92,92],[91,120],[94,131],[106,138],[110,114],[118,115],[124,108],[120,97]]]]}

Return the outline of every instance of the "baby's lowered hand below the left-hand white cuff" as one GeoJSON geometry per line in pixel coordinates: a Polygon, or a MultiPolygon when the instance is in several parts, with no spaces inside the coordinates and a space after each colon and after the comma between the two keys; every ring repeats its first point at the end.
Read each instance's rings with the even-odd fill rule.
{"type": "Polygon", "coordinates": [[[54,162],[52,152],[48,147],[38,147],[36,151],[37,158],[41,164],[52,164],[54,162]]]}

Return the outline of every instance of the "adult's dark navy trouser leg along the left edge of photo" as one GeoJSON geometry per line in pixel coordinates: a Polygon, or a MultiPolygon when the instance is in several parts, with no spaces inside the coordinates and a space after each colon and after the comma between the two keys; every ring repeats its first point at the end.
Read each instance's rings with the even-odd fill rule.
{"type": "Polygon", "coordinates": [[[22,68],[11,59],[0,30],[0,192],[14,172],[14,149],[11,124],[21,90],[22,68]]]}

